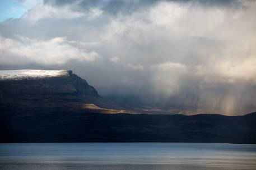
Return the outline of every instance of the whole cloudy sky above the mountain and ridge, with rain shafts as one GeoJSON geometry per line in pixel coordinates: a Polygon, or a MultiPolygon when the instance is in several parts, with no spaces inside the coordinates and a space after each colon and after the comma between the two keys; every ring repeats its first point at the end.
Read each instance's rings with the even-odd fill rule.
{"type": "Polygon", "coordinates": [[[256,1],[0,2],[0,69],[68,69],[101,96],[256,111],[256,1]]]}

